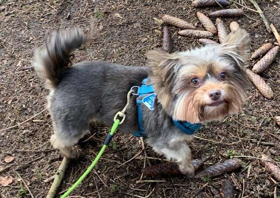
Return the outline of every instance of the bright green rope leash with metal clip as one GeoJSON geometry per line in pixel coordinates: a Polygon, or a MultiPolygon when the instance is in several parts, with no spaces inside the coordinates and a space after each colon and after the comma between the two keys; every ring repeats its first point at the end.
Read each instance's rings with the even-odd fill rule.
{"type": "Polygon", "coordinates": [[[103,152],[105,151],[105,149],[108,147],[110,141],[112,140],[112,137],[114,135],[114,132],[117,130],[118,125],[122,124],[123,121],[125,120],[125,111],[126,111],[126,108],[127,108],[127,105],[129,103],[130,96],[131,96],[132,93],[135,93],[135,91],[130,90],[127,93],[126,105],[124,106],[124,108],[121,111],[118,111],[115,114],[113,126],[112,126],[110,132],[108,133],[104,143],[103,143],[103,147],[101,148],[101,150],[99,151],[99,153],[97,154],[95,159],[93,160],[92,164],[87,168],[87,170],[84,172],[84,174],[82,174],[82,176],[73,184],[73,186],[71,186],[71,188],[69,188],[60,198],[66,198],[86,178],[86,176],[90,173],[90,171],[97,164],[97,162],[99,161],[103,152]],[[117,119],[117,117],[121,117],[122,118],[121,121],[119,119],[117,119]]]}

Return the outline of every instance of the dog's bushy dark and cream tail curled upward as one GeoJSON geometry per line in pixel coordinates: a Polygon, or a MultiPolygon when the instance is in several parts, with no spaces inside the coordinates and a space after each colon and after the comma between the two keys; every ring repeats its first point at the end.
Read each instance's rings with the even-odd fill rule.
{"type": "Polygon", "coordinates": [[[87,37],[80,29],[57,30],[46,46],[35,51],[33,66],[47,84],[56,87],[61,80],[62,71],[67,67],[71,52],[87,42],[87,37]]]}

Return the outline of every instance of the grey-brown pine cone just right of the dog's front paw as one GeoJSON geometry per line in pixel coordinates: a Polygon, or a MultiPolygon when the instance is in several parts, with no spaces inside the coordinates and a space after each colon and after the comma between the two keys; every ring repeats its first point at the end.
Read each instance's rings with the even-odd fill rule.
{"type": "Polygon", "coordinates": [[[214,164],[206,168],[205,170],[197,173],[195,178],[203,177],[215,177],[218,175],[223,175],[224,173],[232,172],[241,166],[242,161],[240,159],[228,159],[224,162],[214,164]]]}

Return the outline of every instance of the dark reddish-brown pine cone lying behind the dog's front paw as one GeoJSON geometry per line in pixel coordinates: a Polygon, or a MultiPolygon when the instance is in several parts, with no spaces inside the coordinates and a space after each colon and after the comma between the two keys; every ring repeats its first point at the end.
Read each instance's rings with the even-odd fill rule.
{"type": "MultiPolygon", "coordinates": [[[[203,164],[202,160],[193,159],[192,165],[197,170],[203,164]]],[[[179,175],[182,174],[176,163],[162,163],[153,166],[149,166],[143,169],[144,176],[156,177],[160,175],[179,175]]]]}

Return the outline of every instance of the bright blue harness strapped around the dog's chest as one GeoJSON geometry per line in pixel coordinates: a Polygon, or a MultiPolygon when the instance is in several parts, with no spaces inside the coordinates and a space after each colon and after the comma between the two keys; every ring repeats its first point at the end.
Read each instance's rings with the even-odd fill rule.
{"type": "MultiPolygon", "coordinates": [[[[153,85],[147,85],[147,81],[148,81],[147,78],[144,79],[142,81],[141,87],[139,87],[137,91],[138,97],[136,99],[136,105],[137,105],[139,131],[134,132],[134,135],[136,137],[147,137],[147,134],[143,127],[143,115],[142,115],[141,104],[144,103],[150,110],[155,109],[154,102],[156,99],[156,94],[153,85]]],[[[201,124],[191,124],[187,121],[179,121],[173,119],[172,121],[176,125],[176,127],[178,127],[184,134],[187,135],[193,135],[201,127],[201,124]]]]}

